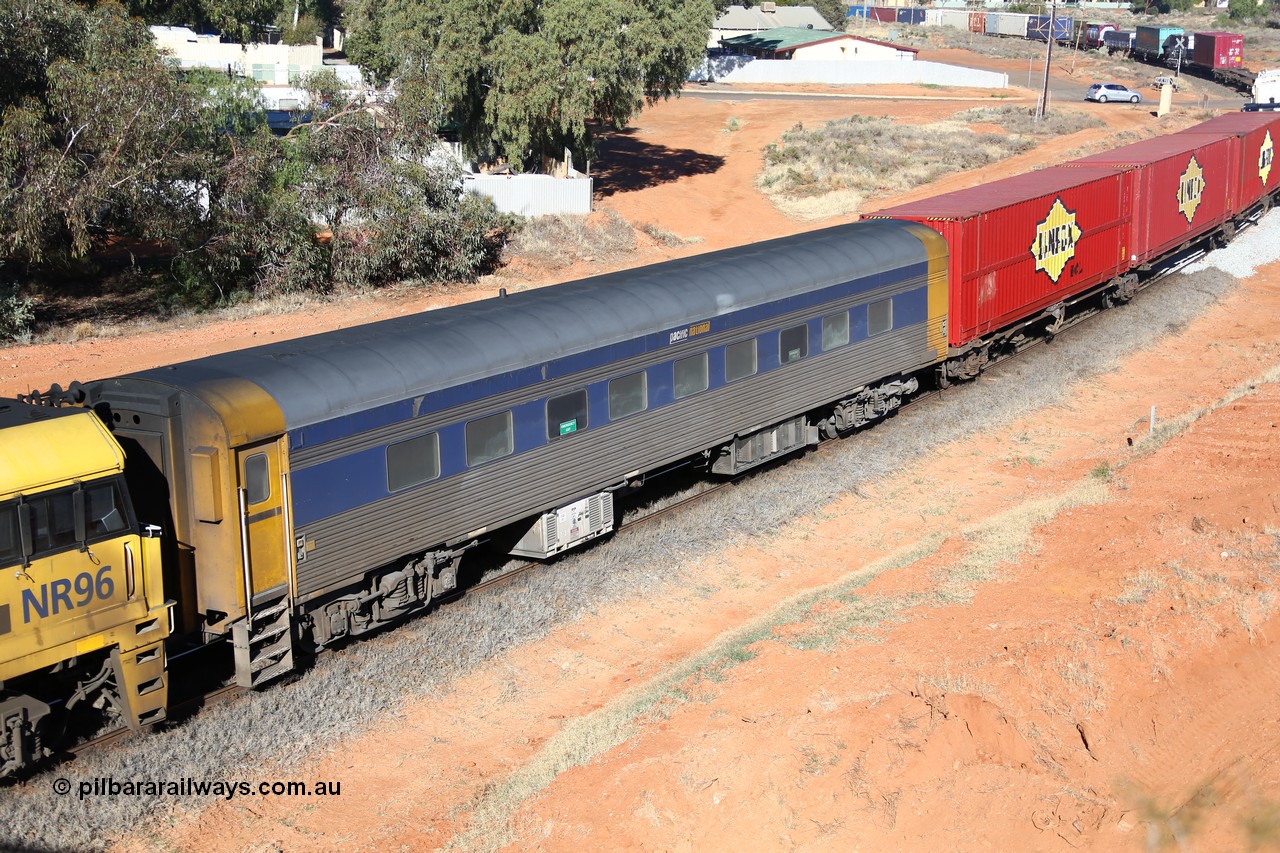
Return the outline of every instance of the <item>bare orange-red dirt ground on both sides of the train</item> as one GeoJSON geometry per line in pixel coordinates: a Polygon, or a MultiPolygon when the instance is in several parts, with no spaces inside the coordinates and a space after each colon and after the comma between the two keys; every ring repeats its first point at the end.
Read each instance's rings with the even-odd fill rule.
{"type": "MultiPolygon", "coordinates": [[[[663,104],[631,136],[723,165],[641,182],[600,207],[701,237],[687,254],[803,231],[812,225],[783,218],[753,188],[760,149],[787,127],[851,111],[929,120],[970,105],[663,104]],[[740,131],[722,132],[730,117],[740,131]]],[[[1112,127],[1162,127],[1140,110],[1106,115],[1112,127]]],[[[1106,136],[1085,131],[913,195],[1053,163],[1106,136]]],[[[630,260],[671,255],[644,246],[630,260]]],[[[0,391],[494,287],[4,350],[0,391]]],[[[376,734],[289,768],[343,783],[325,808],[215,803],[122,847],[1274,847],[1280,388],[1258,378],[1280,362],[1277,320],[1272,265],[1187,329],[1076,388],[1070,403],[936,448],[927,476],[890,479],[759,542],[705,555],[696,589],[564,625],[402,708],[376,734]],[[1252,391],[1229,398],[1251,380],[1252,391]],[[1144,438],[1153,405],[1162,421],[1189,425],[1167,441],[1144,438]],[[1001,544],[1004,557],[984,557],[1001,544]],[[858,578],[856,594],[828,587],[858,578]],[[778,611],[805,590],[812,601],[778,611]],[[760,639],[741,653],[735,631],[753,625],[760,639]],[[721,663],[678,676],[703,656],[721,663]]]]}

